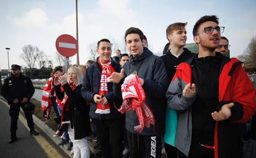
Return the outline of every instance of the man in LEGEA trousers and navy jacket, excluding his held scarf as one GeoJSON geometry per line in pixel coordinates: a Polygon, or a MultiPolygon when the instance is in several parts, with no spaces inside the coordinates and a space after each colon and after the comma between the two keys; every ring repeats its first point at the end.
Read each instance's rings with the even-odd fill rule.
{"type": "Polygon", "coordinates": [[[130,61],[126,62],[121,73],[112,73],[110,81],[114,82],[113,92],[121,98],[121,84],[123,79],[130,74],[137,74],[142,83],[149,108],[154,114],[155,125],[144,127],[141,133],[134,130],[134,126],[140,125],[135,110],[126,112],[126,129],[130,158],[142,158],[146,151],[147,158],[161,158],[161,134],[164,131],[164,106],[165,92],[168,87],[168,75],[165,65],[160,57],[146,47],[142,46],[143,32],[135,27],[126,30],[126,47],[132,54],[130,61]]]}

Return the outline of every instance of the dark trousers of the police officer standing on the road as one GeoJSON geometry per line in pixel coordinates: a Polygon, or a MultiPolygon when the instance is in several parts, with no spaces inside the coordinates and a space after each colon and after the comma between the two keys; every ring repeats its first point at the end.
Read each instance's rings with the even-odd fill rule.
{"type": "MultiPolygon", "coordinates": [[[[22,110],[23,110],[23,106],[24,106],[24,104],[21,104],[21,103],[18,103],[18,104],[11,103],[11,105],[10,105],[9,115],[11,117],[11,128],[10,128],[11,133],[15,133],[16,130],[18,129],[17,121],[19,119],[19,111],[20,111],[20,108],[22,108],[22,110]]],[[[33,129],[34,121],[33,121],[32,114],[30,112],[24,112],[24,113],[25,113],[25,117],[27,119],[28,127],[30,129],[33,129]]]]}

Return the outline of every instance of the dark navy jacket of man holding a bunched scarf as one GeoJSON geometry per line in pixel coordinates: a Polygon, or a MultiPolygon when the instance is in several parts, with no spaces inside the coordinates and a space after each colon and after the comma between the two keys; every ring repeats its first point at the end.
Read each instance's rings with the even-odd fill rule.
{"type": "MultiPolygon", "coordinates": [[[[161,135],[164,131],[165,93],[168,88],[168,75],[163,60],[144,47],[139,57],[130,57],[130,61],[123,66],[125,76],[137,71],[137,75],[144,79],[142,86],[146,95],[145,102],[152,110],[156,124],[144,127],[142,133],[134,131],[134,126],[140,125],[135,110],[126,112],[126,129],[140,135],[161,135]]],[[[121,98],[121,84],[113,84],[114,94],[121,98]]]]}

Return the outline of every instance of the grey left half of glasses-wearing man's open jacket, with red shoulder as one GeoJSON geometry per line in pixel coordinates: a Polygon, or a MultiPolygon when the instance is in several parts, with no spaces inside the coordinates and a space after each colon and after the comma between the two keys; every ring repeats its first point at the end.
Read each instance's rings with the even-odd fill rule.
{"type": "MultiPolygon", "coordinates": [[[[188,64],[186,66],[188,66],[188,64]]],[[[182,73],[178,74],[176,71],[176,74],[168,87],[166,98],[168,101],[168,108],[178,112],[178,124],[176,133],[179,134],[176,135],[175,146],[177,149],[179,149],[179,151],[188,156],[192,137],[191,105],[195,101],[196,94],[193,98],[186,98],[182,95],[182,91],[185,86],[191,82],[191,79],[189,81],[189,77],[187,74],[185,74],[189,73],[186,66],[184,66],[184,63],[182,63],[177,67],[177,71],[178,69],[186,69],[187,71],[181,71],[182,73]],[[182,80],[182,78],[186,78],[186,80],[182,80]]]]}

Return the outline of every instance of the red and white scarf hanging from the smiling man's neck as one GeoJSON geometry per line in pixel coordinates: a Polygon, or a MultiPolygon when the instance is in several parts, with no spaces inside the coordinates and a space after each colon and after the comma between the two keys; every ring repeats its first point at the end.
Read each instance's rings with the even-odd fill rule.
{"type": "MultiPolygon", "coordinates": [[[[106,64],[103,64],[100,61],[100,58],[98,58],[98,63],[100,64],[100,68],[102,70],[101,76],[100,76],[100,91],[99,95],[104,97],[105,94],[108,93],[107,88],[107,78],[111,76],[113,72],[116,72],[114,68],[111,66],[111,59],[109,59],[109,62],[106,64]]],[[[107,103],[106,105],[102,105],[101,103],[97,104],[97,109],[95,111],[96,114],[109,114],[110,113],[110,104],[107,103]]]]}

